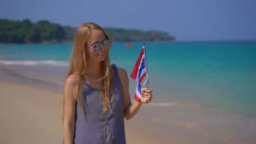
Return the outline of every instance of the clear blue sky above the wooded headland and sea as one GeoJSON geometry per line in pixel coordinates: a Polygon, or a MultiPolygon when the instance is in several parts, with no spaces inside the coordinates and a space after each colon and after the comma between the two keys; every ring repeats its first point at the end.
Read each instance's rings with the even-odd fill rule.
{"type": "Polygon", "coordinates": [[[256,40],[256,0],[1,0],[0,18],[169,32],[180,41],[256,40]]]}

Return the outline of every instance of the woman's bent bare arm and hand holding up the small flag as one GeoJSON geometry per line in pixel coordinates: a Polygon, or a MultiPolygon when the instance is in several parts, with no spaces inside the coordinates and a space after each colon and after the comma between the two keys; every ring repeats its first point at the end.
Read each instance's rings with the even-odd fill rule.
{"type": "MultiPolygon", "coordinates": [[[[136,113],[139,111],[141,105],[144,103],[144,101],[150,102],[152,99],[152,94],[145,94],[147,96],[144,96],[144,101],[141,101],[139,103],[138,101],[135,101],[133,104],[131,104],[131,98],[129,94],[129,79],[127,72],[124,69],[118,68],[118,75],[120,77],[120,81],[123,87],[123,108],[124,108],[124,117],[126,120],[130,120],[136,113]]],[[[146,91],[146,89],[144,89],[146,91]]],[[[151,90],[147,90],[151,91],[151,90]]],[[[142,95],[144,93],[142,92],[142,95]]]]}

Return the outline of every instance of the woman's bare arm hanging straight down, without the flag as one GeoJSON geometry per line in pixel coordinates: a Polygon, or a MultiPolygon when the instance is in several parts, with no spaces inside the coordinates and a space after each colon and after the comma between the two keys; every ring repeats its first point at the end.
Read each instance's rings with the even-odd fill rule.
{"type": "Polygon", "coordinates": [[[73,144],[75,131],[75,99],[73,91],[77,85],[77,76],[70,75],[64,85],[64,143],[73,144]]]}

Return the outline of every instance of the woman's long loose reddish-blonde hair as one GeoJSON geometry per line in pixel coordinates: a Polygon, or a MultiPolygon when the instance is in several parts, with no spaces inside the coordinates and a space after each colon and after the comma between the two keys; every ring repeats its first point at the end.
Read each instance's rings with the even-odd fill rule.
{"type": "MultiPolygon", "coordinates": [[[[83,85],[82,81],[82,75],[87,69],[88,65],[88,55],[86,54],[86,46],[88,45],[88,40],[91,35],[91,31],[93,29],[100,29],[104,35],[106,36],[107,40],[109,40],[109,36],[107,33],[104,31],[103,28],[101,28],[99,25],[94,24],[92,22],[90,23],[84,23],[81,24],[75,34],[75,40],[74,40],[74,47],[70,59],[70,66],[69,70],[67,73],[67,77],[70,75],[78,75],[78,83],[75,87],[75,90],[73,92],[73,96],[77,104],[79,105],[81,112],[83,112],[83,96],[81,96],[81,87],[83,85]]],[[[66,80],[67,80],[66,77],[66,80]]],[[[102,62],[102,67],[101,67],[101,80],[103,80],[103,88],[101,89],[101,93],[103,95],[103,109],[102,113],[108,112],[109,111],[109,105],[110,105],[110,100],[109,100],[109,95],[110,91],[113,89],[112,86],[112,70],[110,68],[110,59],[109,59],[109,50],[107,51],[107,58],[102,62]]],[[[66,83],[66,81],[65,81],[66,83]]],[[[61,122],[63,123],[64,121],[64,95],[63,95],[63,101],[62,101],[62,107],[61,107],[61,122]]]]}

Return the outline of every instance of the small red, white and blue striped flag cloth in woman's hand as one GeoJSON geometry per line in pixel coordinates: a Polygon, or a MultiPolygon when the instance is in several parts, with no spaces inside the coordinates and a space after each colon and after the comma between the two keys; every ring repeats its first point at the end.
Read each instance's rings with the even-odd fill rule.
{"type": "Polygon", "coordinates": [[[136,64],[131,73],[131,78],[137,81],[137,87],[135,92],[135,100],[139,103],[141,102],[141,81],[147,74],[147,63],[145,56],[145,45],[141,49],[139,59],[136,61],[136,64]]]}

